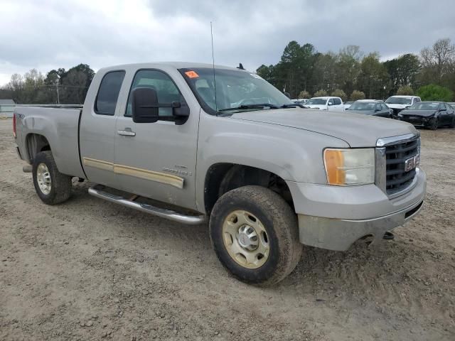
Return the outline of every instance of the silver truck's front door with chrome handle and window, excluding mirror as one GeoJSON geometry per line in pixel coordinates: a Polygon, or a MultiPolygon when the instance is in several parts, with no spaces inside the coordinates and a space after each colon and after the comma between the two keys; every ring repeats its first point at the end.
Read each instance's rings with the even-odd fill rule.
{"type": "Polygon", "coordinates": [[[190,108],[188,120],[181,125],[176,125],[170,107],[159,108],[160,119],[155,123],[135,123],[132,120],[132,91],[137,87],[156,90],[159,104],[178,101],[182,106],[187,105],[176,83],[163,70],[136,72],[126,109],[117,117],[114,162],[117,183],[130,193],[196,209],[200,108],[190,108]]]}

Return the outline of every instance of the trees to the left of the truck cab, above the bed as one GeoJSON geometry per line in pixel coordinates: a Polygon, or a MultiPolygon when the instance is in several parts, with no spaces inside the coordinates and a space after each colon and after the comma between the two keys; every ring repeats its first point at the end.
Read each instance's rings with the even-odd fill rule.
{"type": "Polygon", "coordinates": [[[45,76],[36,69],[25,75],[15,73],[0,87],[0,99],[20,104],[82,104],[94,76],[87,64],[50,70],[45,76]]]}

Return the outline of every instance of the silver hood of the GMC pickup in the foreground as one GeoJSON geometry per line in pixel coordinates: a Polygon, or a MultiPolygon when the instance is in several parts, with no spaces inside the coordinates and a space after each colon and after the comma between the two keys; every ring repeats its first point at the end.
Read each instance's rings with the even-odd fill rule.
{"type": "Polygon", "coordinates": [[[265,109],[239,112],[231,118],[314,131],[346,141],[351,147],[374,147],[382,137],[417,134],[412,124],[403,121],[322,110],[265,109]]]}

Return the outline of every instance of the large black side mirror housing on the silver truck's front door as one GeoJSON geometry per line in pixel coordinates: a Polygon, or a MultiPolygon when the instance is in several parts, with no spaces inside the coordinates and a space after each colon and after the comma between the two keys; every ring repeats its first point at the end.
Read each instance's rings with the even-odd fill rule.
{"type": "Polygon", "coordinates": [[[132,92],[132,118],[135,123],[154,123],[158,121],[158,96],[156,90],[138,87],[132,92]]]}

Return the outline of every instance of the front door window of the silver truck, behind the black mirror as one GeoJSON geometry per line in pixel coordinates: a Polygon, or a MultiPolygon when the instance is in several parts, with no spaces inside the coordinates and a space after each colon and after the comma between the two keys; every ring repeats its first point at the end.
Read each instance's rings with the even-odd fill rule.
{"type": "MultiPolygon", "coordinates": [[[[178,91],[177,86],[166,73],[157,70],[139,70],[134,76],[132,87],[129,90],[127,111],[125,117],[132,116],[132,91],[137,87],[149,87],[156,91],[159,104],[171,104],[172,102],[181,102],[186,105],[185,99],[178,91]]],[[[163,119],[172,118],[172,108],[159,108],[158,114],[163,119]]]]}

